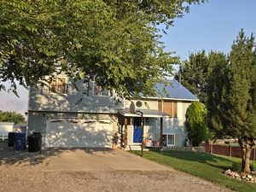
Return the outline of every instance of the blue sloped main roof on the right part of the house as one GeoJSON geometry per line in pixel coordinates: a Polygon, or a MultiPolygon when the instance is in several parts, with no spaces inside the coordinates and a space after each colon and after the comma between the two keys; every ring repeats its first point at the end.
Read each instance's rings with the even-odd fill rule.
{"type": "Polygon", "coordinates": [[[185,88],[182,84],[177,82],[177,80],[173,79],[166,83],[158,83],[155,86],[155,90],[157,91],[158,94],[160,94],[160,96],[148,96],[148,98],[161,97],[163,99],[177,99],[189,101],[199,100],[197,96],[192,94],[187,88],[185,88]]]}

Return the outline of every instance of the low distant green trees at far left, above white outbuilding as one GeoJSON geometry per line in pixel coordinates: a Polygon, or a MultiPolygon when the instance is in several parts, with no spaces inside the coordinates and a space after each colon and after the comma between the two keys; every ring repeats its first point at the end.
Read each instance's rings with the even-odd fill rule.
{"type": "Polygon", "coordinates": [[[20,113],[0,111],[0,122],[11,122],[17,125],[17,124],[25,123],[26,119],[20,113]]]}

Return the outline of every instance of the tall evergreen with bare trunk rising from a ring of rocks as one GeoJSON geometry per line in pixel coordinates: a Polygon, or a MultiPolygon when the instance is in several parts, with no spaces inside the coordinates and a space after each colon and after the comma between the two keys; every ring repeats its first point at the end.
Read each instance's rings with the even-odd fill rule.
{"type": "Polygon", "coordinates": [[[239,138],[242,171],[250,172],[249,160],[256,144],[256,52],[253,35],[239,32],[230,53],[229,84],[226,90],[225,122],[229,133],[239,138]]]}

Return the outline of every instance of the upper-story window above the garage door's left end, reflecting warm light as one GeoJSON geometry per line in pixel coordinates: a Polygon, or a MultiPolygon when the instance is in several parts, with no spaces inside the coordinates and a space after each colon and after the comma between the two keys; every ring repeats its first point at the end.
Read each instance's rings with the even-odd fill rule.
{"type": "Polygon", "coordinates": [[[67,79],[55,78],[49,83],[49,92],[67,94],[67,79]]]}

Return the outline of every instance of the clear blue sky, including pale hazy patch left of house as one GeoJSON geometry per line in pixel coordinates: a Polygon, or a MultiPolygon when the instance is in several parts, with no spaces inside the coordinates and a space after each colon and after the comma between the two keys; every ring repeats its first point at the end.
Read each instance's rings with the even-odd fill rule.
{"type": "MultiPolygon", "coordinates": [[[[193,5],[189,14],[175,20],[174,26],[161,40],[166,51],[174,51],[182,60],[205,49],[229,53],[241,28],[256,35],[256,0],[209,0],[193,5]]],[[[27,111],[28,91],[19,87],[20,98],[0,91],[0,110],[27,111]]]]}

